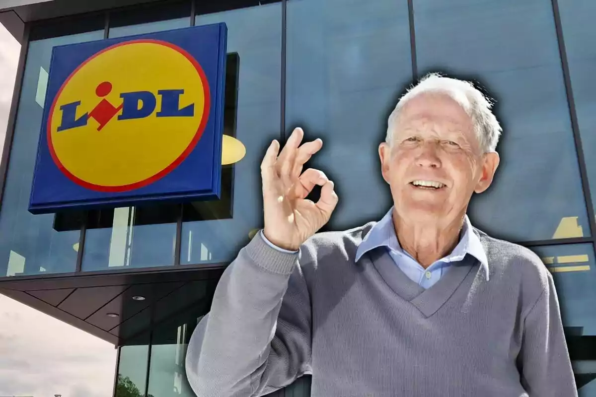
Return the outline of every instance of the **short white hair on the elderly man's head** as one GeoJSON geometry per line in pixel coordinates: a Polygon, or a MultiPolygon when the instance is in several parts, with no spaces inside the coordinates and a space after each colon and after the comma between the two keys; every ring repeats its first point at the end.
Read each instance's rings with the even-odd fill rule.
{"type": "Polygon", "coordinates": [[[458,102],[470,116],[474,125],[480,149],[484,153],[494,152],[501,136],[501,125],[492,112],[492,101],[486,98],[470,82],[441,76],[439,73],[429,73],[417,85],[412,86],[400,99],[395,109],[389,115],[387,126],[387,143],[393,142],[393,129],[399,117],[399,112],[410,99],[421,93],[445,93],[458,102]]]}

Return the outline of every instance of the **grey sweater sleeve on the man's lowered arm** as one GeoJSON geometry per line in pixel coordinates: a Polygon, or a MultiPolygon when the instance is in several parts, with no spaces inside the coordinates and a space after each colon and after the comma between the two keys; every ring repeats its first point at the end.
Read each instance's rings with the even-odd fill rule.
{"type": "Polygon", "coordinates": [[[524,321],[520,364],[522,385],[530,397],[578,396],[552,281],[524,321]]]}

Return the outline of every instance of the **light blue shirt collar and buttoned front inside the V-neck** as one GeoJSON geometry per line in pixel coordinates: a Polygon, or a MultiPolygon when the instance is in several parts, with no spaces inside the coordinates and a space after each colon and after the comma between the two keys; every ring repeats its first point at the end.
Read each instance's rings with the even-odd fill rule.
{"type": "Polygon", "coordinates": [[[391,255],[395,264],[415,283],[427,289],[441,279],[443,274],[449,271],[452,265],[464,259],[470,254],[482,264],[487,265],[486,252],[480,243],[480,239],[473,232],[470,219],[465,216],[464,226],[460,234],[460,242],[448,256],[434,262],[426,269],[422,267],[408,252],[399,245],[398,237],[393,226],[393,207],[387,214],[373,226],[367,236],[356,250],[356,261],[371,249],[385,247],[391,255]]]}

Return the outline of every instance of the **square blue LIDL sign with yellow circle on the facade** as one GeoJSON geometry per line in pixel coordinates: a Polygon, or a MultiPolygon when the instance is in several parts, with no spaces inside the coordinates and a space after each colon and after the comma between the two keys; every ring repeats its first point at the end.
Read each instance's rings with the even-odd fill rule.
{"type": "Polygon", "coordinates": [[[225,24],[54,48],[30,211],[219,196],[225,24]]]}

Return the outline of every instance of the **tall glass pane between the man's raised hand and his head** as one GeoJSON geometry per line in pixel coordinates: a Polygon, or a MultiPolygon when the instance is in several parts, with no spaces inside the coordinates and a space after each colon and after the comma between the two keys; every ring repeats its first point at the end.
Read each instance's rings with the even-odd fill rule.
{"type": "Polygon", "coordinates": [[[285,127],[324,142],[311,166],[340,196],[330,229],[380,219],[392,205],[378,144],[411,79],[406,1],[288,1],[285,127]]]}

